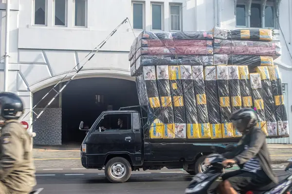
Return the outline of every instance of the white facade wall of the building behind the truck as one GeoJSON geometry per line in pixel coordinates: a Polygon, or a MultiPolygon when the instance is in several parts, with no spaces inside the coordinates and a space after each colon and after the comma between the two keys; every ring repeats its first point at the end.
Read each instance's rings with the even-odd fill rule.
{"type": "MultiPolygon", "coordinates": [[[[137,0],[140,1],[140,0],[137,0]]],[[[9,90],[23,96],[25,108],[31,105],[31,92],[56,83],[95,48],[125,18],[132,23],[131,0],[88,0],[87,27],[73,27],[73,0],[68,0],[67,26],[53,25],[53,0],[47,0],[47,26],[33,25],[33,0],[12,0],[10,18],[10,71],[9,90]]],[[[150,0],[145,3],[145,29],[151,29],[150,0]]],[[[222,28],[236,28],[234,0],[155,0],[164,3],[164,31],[169,31],[169,4],[182,4],[183,31],[210,30],[219,24],[222,28]],[[215,2],[215,4],[214,4],[215,2]],[[219,10],[217,10],[219,2],[219,10]]],[[[280,4],[280,30],[282,56],[275,62],[280,66],[283,83],[292,91],[292,2],[280,4]],[[284,37],[287,46],[284,41],[284,37]]],[[[4,55],[5,3],[0,3],[0,55],[4,55]]],[[[137,36],[141,31],[135,30],[137,36]]],[[[134,39],[128,23],[123,24],[101,51],[92,58],[80,73],[84,77],[129,77],[128,51],[134,39]]],[[[87,58],[88,59],[88,58],[87,58]]],[[[87,60],[86,59],[86,60],[87,60]]],[[[86,60],[81,62],[81,65],[86,60]]],[[[80,66],[79,66],[80,67],[80,66]]],[[[73,74],[71,74],[73,75],[73,74]]],[[[3,57],[0,58],[0,90],[3,90],[3,57]]],[[[288,102],[292,105],[292,99],[288,102]]],[[[291,110],[289,120],[292,120],[291,110]]],[[[31,120],[30,117],[25,120],[31,120]]],[[[292,124],[290,124],[292,129],[292,124]]],[[[291,141],[292,142],[292,139],[291,141]]]]}

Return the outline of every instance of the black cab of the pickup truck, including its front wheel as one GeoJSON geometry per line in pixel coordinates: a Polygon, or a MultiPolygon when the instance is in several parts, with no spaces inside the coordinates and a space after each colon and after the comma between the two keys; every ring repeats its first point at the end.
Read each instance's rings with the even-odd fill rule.
{"type": "MultiPolygon", "coordinates": [[[[131,173],[127,172],[130,170],[128,167],[143,164],[143,133],[140,118],[139,112],[135,110],[103,112],[82,142],[83,167],[99,170],[106,167],[108,170],[106,175],[111,182],[124,182],[131,173]]],[[[82,121],[79,129],[85,130],[82,121]]]]}

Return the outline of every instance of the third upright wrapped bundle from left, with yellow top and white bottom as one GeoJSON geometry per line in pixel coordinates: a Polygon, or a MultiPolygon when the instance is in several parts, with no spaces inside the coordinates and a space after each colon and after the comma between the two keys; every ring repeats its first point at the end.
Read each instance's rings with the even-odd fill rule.
{"type": "Polygon", "coordinates": [[[180,66],[168,66],[170,93],[173,97],[173,111],[175,122],[175,137],[185,138],[185,109],[183,101],[183,88],[181,83],[180,66]]]}

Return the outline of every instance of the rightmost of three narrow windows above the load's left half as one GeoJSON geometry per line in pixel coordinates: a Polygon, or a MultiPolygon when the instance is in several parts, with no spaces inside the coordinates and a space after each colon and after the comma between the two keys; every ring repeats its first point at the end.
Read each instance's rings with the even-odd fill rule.
{"type": "Polygon", "coordinates": [[[182,30],[181,5],[169,6],[170,31],[182,30]]]}

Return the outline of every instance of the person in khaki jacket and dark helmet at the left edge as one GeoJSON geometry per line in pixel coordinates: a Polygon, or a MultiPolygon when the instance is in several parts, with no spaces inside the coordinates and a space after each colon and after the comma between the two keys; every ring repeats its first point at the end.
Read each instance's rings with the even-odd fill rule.
{"type": "Polygon", "coordinates": [[[18,122],[21,99],[0,93],[0,194],[29,194],[36,185],[31,137],[18,122]]]}

